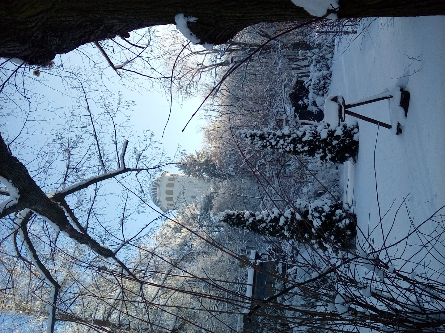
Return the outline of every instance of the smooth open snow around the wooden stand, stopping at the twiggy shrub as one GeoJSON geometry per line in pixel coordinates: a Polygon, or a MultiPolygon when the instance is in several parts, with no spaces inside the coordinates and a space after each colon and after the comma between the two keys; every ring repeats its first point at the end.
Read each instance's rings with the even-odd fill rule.
{"type": "MultiPolygon", "coordinates": [[[[337,40],[334,59],[329,95],[342,94],[346,103],[379,94],[407,70],[410,73],[406,90],[411,100],[403,133],[393,135],[391,130],[358,120],[357,163],[344,165],[346,196],[353,200],[364,233],[359,243],[369,237],[378,250],[384,238],[387,246],[395,243],[445,205],[445,16],[366,19],[356,35],[337,40]]],[[[390,124],[388,105],[384,100],[351,111],[390,124]]],[[[439,224],[428,221],[422,231],[433,232],[439,224]]],[[[406,249],[404,258],[420,250],[415,244],[420,244],[419,239],[411,238],[409,245],[414,246],[406,249]]],[[[391,254],[402,255],[404,247],[401,244],[391,254]]],[[[439,254],[445,253],[438,244],[435,247],[439,254]]],[[[421,252],[418,260],[425,256],[421,252]]],[[[416,269],[416,258],[412,260],[404,270],[416,269]]]]}

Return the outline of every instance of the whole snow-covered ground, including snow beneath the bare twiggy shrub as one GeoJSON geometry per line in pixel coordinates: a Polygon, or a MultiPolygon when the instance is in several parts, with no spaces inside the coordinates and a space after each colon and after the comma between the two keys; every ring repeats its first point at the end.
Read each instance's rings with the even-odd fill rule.
{"type": "MultiPolygon", "coordinates": [[[[348,325],[361,321],[360,332],[401,332],[403,325],[436,321],[432,327],[442,331],[444,325],[438,326],[445,321],[445,18],[366,19],[357,30],[356,35],[336,40],[328,94],[343,95],[352,103],[403,87],[411,94],[408,115],[405,119],[401,113],[399,97],[352,108],[385,123],[400,122],[403,133],[394,135],[393,128],[357,119],[357,162],[342,166],[341,179],[343,199],[357,214],[357,249],[343,257],[300,251],[299,261],[315,266],[299,267],[296,281],[337,267],[328,274],[335,289],[324,296],[330,301],[316,305],[344,320],[333,321],[330,329],[355,331],[348,325]],[[379,312],[388,316],[386,324],[379,312]],[[397,324],[401,317],[404,321],[397,324]]],[[[298,305],[294,298],[288,304],[298,305]]]]}

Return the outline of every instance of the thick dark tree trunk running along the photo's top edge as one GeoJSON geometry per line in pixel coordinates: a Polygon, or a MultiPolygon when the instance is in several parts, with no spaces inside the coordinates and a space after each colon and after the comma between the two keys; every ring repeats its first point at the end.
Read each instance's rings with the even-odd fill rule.
{"type": "MultiPolygon", "coordinates": [[[[1,0],[0,57],[46,65],[82,44],[174,24],[179,13],[197,17],[189,28],[210,44],[252,24],[312,17],[290,0],[1,0]]],[[[445,1],[340,0],[340,17],[423,15],[445,15],[445,1]]]]}

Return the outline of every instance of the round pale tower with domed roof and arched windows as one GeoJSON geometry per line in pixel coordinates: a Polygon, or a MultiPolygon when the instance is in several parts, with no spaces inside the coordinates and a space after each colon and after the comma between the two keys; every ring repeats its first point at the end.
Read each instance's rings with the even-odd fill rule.
{"type": "Polygon", "coordinates": [[[209,183],[164,171],[151,184],[153,203],[166,212],[196,202],[209,191],[209,183]]]}

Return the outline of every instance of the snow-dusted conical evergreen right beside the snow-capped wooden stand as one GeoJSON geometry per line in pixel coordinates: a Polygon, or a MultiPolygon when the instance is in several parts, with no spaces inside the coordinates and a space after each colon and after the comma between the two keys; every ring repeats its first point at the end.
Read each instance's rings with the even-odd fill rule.
{"type": "Polygon", "coordinates": [[[324,123],[295,129],[287,126],[279,131],[268,128],[263,131],[242,130],[239,135],[247,143],[255,144],[257,149],[276,149],[291,155],[316,157],[329,163],[355,163],[359,148],[357,123],[340,123],[337,127],[324,123]]]}

